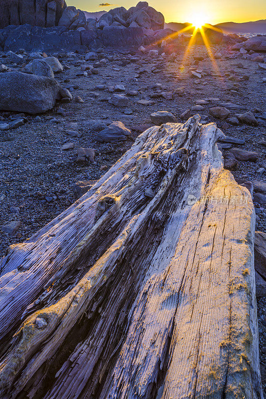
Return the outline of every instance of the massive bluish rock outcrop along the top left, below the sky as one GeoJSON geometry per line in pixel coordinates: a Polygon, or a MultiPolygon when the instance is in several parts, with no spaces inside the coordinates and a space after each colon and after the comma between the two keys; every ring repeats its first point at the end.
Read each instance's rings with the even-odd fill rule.
{"type": "MultiPolygon", "coordinates": [[[[164,29],[163,14],[146,1],[140,1],[136,7],[128,10],[125,7],[113,8],[101,15],[98,21],[86,19],[85,12],[74,6],[66,6],[64,0],[36,0],[34,7],[31,1],[31,11],[25,17],[24,8],[19,8],[22,17],[19,13],[12,25],[0,29],[0,50],[17,51],[23,48],[26,51],[50,51],[84,50],[84,46],[95,48],[99,45],[140,46],[160,41],[170,30],[164,29]]],[[[10,8],[8,12],[6,20],[10,22],[10,15],[14,15],[15,11],[10,8]]]]}

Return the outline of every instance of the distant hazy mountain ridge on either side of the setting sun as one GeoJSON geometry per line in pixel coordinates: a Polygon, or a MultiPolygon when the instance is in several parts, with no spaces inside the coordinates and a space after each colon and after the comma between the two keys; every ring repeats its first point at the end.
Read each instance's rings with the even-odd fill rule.
{"type": "MultiPolygon", "coordinates": [[[[169,22],[165,23],[165,28],[173,30],[181,30],[186,26],[190,25],[189,22],[169,22]]],[[[252,22],[223,22],[215,25],[222,29],[224,32],[233,33],[265,33],[266,34],[266,19],[260,19],[259,21],[252,22]]]]}

